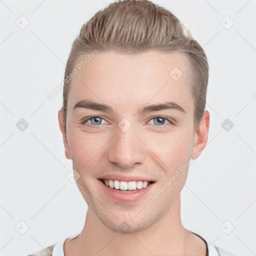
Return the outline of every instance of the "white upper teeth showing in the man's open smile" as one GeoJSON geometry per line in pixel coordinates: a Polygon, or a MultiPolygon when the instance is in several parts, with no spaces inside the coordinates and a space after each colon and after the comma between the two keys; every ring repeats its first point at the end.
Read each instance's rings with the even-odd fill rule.
{"type": "Polygon", "coordinates": [[[122,180],[112,180],[112,179],[99,179],[105,186],[110,188],[120,190],[120,191],[131,191],[139,190],[147,187],[148,185],[154,183],[155,181],[122,181],[122,180]]]}

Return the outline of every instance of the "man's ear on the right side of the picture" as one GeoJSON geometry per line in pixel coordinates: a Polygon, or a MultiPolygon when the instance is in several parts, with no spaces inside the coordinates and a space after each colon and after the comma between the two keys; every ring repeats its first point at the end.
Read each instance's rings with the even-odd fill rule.
{"type": "Polygon", "coordinates": [[[210,122],[210,113],[204,110],[201,121],[194,132],[194,144],[191,153],[191,158],[195,159],[198,157],[198,151],[201,153],[206,146],[208,139],[210,122]]]}

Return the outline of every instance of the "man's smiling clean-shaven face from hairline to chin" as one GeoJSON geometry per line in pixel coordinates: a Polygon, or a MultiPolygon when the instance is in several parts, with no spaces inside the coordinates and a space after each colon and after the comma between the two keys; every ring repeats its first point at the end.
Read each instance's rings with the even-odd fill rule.
{"type": "Polygon", "coordinates": [[[193,130],[186,62],[176,52],[99,52],[72,79],[66,134],[59,112],[65,155],[88,208],[114,231],[143,230],[166,214],[188,168],[176,171],[206,143],[193,130]]]}

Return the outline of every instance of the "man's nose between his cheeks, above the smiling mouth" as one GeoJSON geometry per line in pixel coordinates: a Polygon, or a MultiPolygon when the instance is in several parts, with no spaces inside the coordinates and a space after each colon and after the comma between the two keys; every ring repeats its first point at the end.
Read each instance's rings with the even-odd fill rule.
{"type": "Polygon", "coordinates": [[[129,168],[145,159],[143,143],[133,134],[132,129],[117,130],[109,143],[108,160],[121,168],[129,168]]]}

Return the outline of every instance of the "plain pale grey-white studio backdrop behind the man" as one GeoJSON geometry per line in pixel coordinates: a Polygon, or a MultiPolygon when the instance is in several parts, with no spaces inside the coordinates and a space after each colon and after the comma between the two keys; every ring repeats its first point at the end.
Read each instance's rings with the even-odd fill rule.
{"type": "MultiPolygon", "coordinates": [[[[52,91],[81,25],[110,2],[0,0],[0,255],[41,250],[83,227],[87,206],[57,122],[62,89],[52,91]]],[[[255,255],[255,1],[153,2],[188,25],[209,62],[208,143],[189,167],[182,223],[255,255]]]]}

